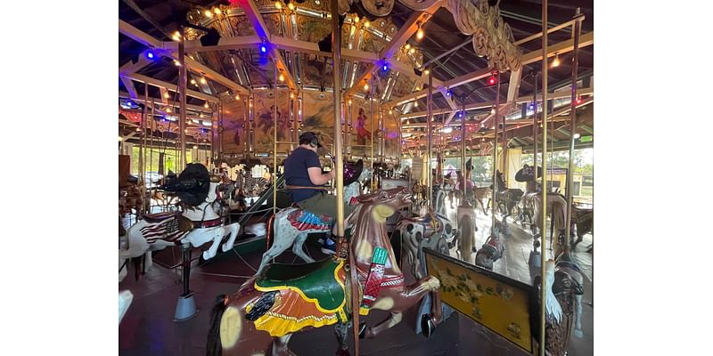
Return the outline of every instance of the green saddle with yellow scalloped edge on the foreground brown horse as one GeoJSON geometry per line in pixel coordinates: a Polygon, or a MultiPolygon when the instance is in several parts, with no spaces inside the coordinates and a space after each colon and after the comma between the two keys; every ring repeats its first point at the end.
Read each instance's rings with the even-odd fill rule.
{"type": "Polygon", "coordinates": [[[306,264],[271,263],[255,280],[255,288],[263,292],[291,289],[323,312],[336,312],[345,298],[344,281],[337,277],[343,266],[333,258],[306,264]]]}

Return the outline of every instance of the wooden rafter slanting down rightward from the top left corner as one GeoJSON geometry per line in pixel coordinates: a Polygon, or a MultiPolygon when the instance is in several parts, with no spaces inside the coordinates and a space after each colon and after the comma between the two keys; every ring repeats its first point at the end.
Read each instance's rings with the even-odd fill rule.
{"type": "MultiPolygon", "coordinates": [[[[156,38],[153,38],[152,36],[146,34],[142,30],[135,28],[134,26],[131,26],[129,23],[127,23],[124,20],[119,20],[119,32],[124,34],[125,36],[130,37],[131,39],[135,40],[136,42],[143,44],[145,46],[157,49],[158,52],[156,53],[159,55],[165,55],[167,57],[172,58],[174,61],[178,61],[178,53],[177,50],[176,52],[171,52],[167,51],[164,49],[164,43],[157,40],[156,38]]],[[[209,69],[205,65],[201,64],[198,61],[195,61],[189,57],[185,57],[185,65],[187,66],[188,69],[192,69],[194,72],[197,72],[201,76],[208,77],[210,80],[219,83],[221,85],[225,85],[225,87],[240,92],[240,93],[250,93],[250,91],[245,88],[242,85],[239,85],[235,83],[234,81],[230,80],[227,77],[224,77],[217,71],[213,69],[209,69]]]]}

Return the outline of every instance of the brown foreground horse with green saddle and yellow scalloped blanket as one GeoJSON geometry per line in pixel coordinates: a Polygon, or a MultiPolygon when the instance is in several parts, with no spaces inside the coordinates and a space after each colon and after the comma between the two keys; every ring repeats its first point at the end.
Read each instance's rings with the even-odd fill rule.
{"type": "Polygon", "coordinates": [[[410,195],[405,188],[395,188],[358,197],[359,205],[349,218],[351,242],[348,247],[342,245],[333,258],[302,265],[272,263],[234,294],[218,295],[207,354],[287,355],[291,354],[291,334],[334,324],[340,341],[337,354],[348,354],[350,320],[356,328],[361,326],[360,315],[372,310],[390,312],[386,320],[359,333],[368,338],[379,336],[431,292],[437,303],[433,316],[427,319],[430,323],[440,321],[439,280],[427,277],[406,286],[385,231],[386,219],[408,206],[410,195]],[[348,260],[353,261],[348,268],[342,259],[347,251],[348,260]]]}

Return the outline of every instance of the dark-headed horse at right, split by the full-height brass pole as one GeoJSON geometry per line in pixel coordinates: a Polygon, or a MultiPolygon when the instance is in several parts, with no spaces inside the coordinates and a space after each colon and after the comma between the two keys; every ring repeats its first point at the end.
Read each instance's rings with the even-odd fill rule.
{"type": "MultiPolygon", "coordinates": [[[[537,168],[537,177],[541,176],[540,168],[537,168]]],[[[520,198],[520,215],[530,215],[531,210],[532,223],[530,225],[531,230],[534,234],[535,250],[539,247],[540,243],[537,239],[541,236],[545,236],[545,226],[542,225],[542,190],[537,185],[535,178],[535,167],[524,165],[515,174],[515,181],[526,182],[527,192],[520,198]]],[[[553,236],[555,231],[558,232],[557,238],[557,250],[555,255],[561,253],[561,248],[564,246],[564,229],[565,229],[565,219],[567,216],[567,200],[561,196],[561,194],[547,194],[547,212],[550,214],[551,218],[551,241],[554,241],[553,236]]]]}

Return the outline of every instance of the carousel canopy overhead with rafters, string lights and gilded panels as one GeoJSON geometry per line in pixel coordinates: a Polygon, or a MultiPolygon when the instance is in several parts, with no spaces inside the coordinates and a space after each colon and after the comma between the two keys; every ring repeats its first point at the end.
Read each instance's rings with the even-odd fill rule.
{"type": "MultiPolygon", "coordinates": [[[[340,0],[339,4],[343,99],[349,104],[352,99],[369,102],[382,115],[388,112],[400,125],[400,130],[395,129],[402,134],[404,148],[425,144],[429,72],[437,140],[460,141],[462,119],[469,133],[466,140],[478,145],[477,141],[492,139],[491,111],[499,86],[508,144],[531,146],[531,116],[536,111],[532,101],[534,93],[539,96],[542,79],[540,2],[340,0]]],[[[553,134],[556,141],[569,140],[566,123],[561,120],[558,127],[557,117],[569,117],[577,9],[585,19],[579,36],[578,110],[589,117],[578,119],[577,132],[592,134],[593,4],[551,0],[547,58],[559,66],[553,63],[549,70],[548,96],[554,128],[560,129],[553,134]]],[[[182,26],[188,70],[186,130],[199,142],[207,141],[214,127],[218,102],[242,101],[275,88],[298,96],[332,93],[327,0],[122,0],[119,121],[127,132],[136,129],[135,116],[146,105],[160,117],[152,128],[175,133],[182,26]]]]}

